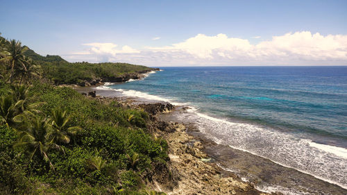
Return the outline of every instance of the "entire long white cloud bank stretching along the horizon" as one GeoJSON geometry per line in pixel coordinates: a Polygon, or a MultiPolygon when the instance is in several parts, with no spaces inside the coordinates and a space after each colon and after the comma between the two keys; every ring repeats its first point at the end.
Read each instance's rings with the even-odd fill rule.
{"type": "MultiPolygon", "coordinates": [[[[347,65],[347,35],[323,36],[309,31],[274,36],[257,44],[225,34],[198,34],[176,44],[146,46],[141,50],[127,45],[117,49],[117,44],[112,43],[83,45],[88,49],[79,57],[94,58],[94,62],[120,61],[149,66],[347,65]]],[[[72,58],[78,58],[78,53],[75,54],[72,58]]]]}

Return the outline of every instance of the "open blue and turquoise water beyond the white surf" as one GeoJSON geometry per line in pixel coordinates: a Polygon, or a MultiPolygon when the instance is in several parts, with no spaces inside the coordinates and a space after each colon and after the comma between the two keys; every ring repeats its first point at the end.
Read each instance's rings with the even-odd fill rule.
{"type": "Polygon", "coordinates": [[[115,85],[196,106],[203,112],[344,139],[347,67],[164,67],[115,85]]]}

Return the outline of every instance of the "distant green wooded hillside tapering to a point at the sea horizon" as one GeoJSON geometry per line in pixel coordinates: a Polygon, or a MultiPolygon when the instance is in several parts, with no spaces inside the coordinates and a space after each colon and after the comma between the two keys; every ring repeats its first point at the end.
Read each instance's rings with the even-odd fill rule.
{"type": "MultiPolygon", "coordinates": [[[[10,46],[10,42],[0,37],[3,42],[4,50],[10,46]]],[[[101,80],[103,82],[125,82],[130,78],[140,78],[148,71],[158,70],[141,65],[131,65],[120,62],[67,62],[60,56],[41,56],[35,53],[27,46],[23,55],[33,60],[33,64],[39,65],[39,74],[43,78],[51,80],[56,85],[60,84],[78,84],[92,82],[92,80],[101,80]]]]}

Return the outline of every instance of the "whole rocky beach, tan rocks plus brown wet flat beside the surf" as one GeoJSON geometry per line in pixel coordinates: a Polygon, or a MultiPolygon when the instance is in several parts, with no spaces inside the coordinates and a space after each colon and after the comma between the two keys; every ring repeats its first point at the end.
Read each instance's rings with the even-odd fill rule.
{"type": "MultiPolygon", "coordinates": [[[[121,82],[114,83],[118,84],[121,82]]],[[[167,173],[170,173],[170,178],[156,178],[147,184],[158,191],[167,194],[346,192],[341,187],[310,174],[207,137],[200,130],[201,121],[190,119],[192,108],[185,105],[171,105],[152,96],[124,96],[122,92],[107,89],[107,86],[74,88],[90,98],[104,102],[116,99],[124,106],[145,110],[151,115],[153,134],[166,139],[169,144],[170,170],[167,173]]]]}

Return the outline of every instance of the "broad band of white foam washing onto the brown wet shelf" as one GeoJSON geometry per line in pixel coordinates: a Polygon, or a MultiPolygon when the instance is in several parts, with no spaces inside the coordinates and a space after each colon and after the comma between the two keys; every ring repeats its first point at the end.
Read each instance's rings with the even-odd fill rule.
{"type": "Polygon", "coordinates": [[[178,115],[178,119],[196,121],[201,133],[217,144],[226,144],[347,189],[344,148],[316,144],[263,126],[210,117],[194,107],[187,111],[186,115],[178,115]]]}

